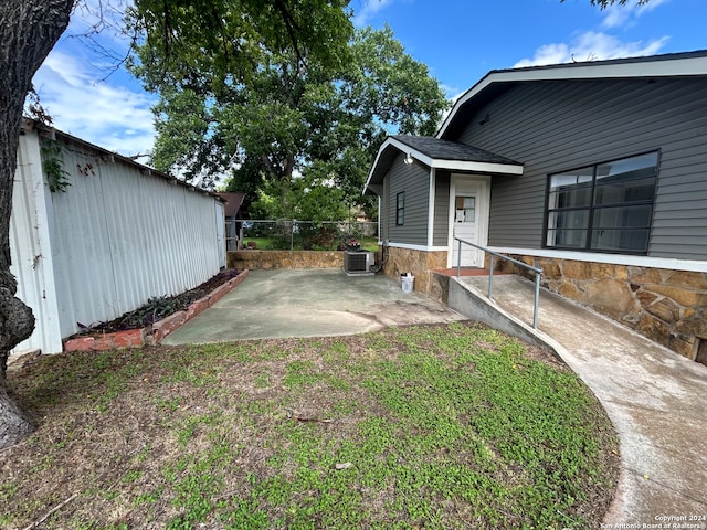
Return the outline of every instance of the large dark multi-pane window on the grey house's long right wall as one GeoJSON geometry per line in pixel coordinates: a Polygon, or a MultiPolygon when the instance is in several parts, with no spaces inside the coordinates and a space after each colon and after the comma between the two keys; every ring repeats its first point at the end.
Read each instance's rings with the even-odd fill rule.
{"type": "Polygon", "coordinates": [[[646,254],[658,153],[551,174],[546,246],[646,254]]]}

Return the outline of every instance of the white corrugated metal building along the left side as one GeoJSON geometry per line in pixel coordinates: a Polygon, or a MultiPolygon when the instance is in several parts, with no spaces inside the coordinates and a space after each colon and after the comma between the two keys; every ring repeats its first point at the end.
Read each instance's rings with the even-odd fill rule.
{"type": "Polygon", "coordinates": [[[10,220],[10,271],[36,319],[13,350],[62,339],[225,266],[223,202],[134,160],[25,120],[10,220]]]}

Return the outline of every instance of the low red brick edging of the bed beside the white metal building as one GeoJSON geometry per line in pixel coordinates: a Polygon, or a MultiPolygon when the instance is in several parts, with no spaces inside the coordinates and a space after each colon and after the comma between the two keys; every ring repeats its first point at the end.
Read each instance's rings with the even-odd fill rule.
{"type": "Polygon", "coordinates": [[[177,328],[183,326],[223,298],[224,295],[247,278],[247,269],[242,271],[236,277],[220,285],[207,296],[191,303],[187,309],[165,317],[151,326],[141,329],[128,329],[126,331],[116,331],[115,333],[105,333],[101,337],[77,337],[70,339],[64,343],[64,351],[106,351],[120,348],[139,348],[145,344],[158,344],[177,328]]]}

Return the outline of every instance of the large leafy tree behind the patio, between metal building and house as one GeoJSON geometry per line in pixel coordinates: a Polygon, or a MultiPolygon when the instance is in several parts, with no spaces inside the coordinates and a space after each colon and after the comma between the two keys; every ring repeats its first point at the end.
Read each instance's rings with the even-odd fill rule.
{"type": "MultiPolygon", "coordinates": [[[[194,44],[202,52],[208,45],[194,44]]],[[[258,197],[268,216],[302,219],[316,182],[320,197],[336,190],[344,199],[327,211],[347,211],[361,201],[367,169],[384,137],[432,134],[446,107],[436,80],[388,26],[356,32],[336,52],[345,60],[321,62],[305,51],[304,67],[292,49],[261,50],[250,77],[238,82],[220,78],[221,71],[210,66],[194,82],[183,67],[188,60],[156,75],[155,66],[166,62],[156,61],[152,50],[140,57],[146,53],[151,63],[136,71],[160,94],[154,163],[207,183],[209,176],[231,172],[228,189],[258,197]],[[152,83],[163,78],[169,82],[152,83]]]]}

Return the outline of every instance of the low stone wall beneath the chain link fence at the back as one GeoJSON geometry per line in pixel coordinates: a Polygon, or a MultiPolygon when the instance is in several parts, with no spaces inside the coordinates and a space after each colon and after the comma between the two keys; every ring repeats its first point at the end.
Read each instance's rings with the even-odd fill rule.
{"type": "Polygon", "coordinates": [[[232,251],[229,268],[341,268],[344,252],[339,251],[232,251]]]}

